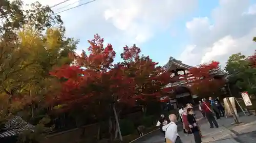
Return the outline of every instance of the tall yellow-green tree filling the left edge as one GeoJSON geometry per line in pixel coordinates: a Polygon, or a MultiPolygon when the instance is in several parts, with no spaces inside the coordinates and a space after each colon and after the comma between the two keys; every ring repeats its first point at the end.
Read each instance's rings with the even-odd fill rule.
{"type": "Polygon", "coordinates": [[[59,89],[49,71],[73,62],[78,41],[64,36],[60,16],[52,16],[49,6],[36,2],[25,11],[22,1],[3,0],[0,9],[0,132],[18,113],[38,127],[25,141],[46,129],[46,99],[59,89]]]}

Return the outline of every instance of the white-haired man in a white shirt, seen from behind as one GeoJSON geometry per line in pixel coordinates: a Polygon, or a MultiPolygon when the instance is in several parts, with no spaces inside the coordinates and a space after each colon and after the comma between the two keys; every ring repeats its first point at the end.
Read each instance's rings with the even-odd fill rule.
{"type": "Polygon", "coordinates": [[[169,139],[172,143],[182,143],[177,129],[177,118],[176,115],[169,115],[170,123],[163,126],[163,131],[165,131],[166,140],[169,139]]]}

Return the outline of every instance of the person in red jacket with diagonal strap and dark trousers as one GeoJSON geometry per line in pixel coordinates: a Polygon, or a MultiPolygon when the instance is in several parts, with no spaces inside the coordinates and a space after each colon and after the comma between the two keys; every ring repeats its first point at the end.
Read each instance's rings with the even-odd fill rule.
{"type": "Polygon", "coordinates": [[[210,108],[210,103],[206,102],[206,99],[203,99],[203,104],[202,104],[202,110],[205,112],[205,116],[210,124],[210,128],[214,128],[214,126],[216,128],[219,127],[215,117],[214,117],[214,113],[212,112],[211,108],[210,108]]]}

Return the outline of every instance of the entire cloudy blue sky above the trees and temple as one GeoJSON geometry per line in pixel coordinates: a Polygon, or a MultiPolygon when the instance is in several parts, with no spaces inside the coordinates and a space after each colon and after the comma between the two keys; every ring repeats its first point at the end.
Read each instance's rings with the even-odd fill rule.
{"type": "MultiPolygon", "coordinates": [[[[38,0],[49,6],[63,1],[38,0]]],[[[80,40],[78,53],[94,34],[113,45],[116,61],[122,47],[136,44],[162,66],[170,56],[190,66],[212,60],[225,66],[231,54],[248,56],[256,49],[256,0],[96,0],[61,12],[89,1],[70,0],[52,8],[60,12],[67,37],[80,40]]]]}

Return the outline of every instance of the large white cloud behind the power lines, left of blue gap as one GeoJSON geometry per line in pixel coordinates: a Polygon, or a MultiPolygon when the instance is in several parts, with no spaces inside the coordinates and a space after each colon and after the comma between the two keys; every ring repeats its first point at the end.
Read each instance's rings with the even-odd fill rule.
{"type": "MultiPolygon", "coordinates": [[[[36,0],[25,0],[32,3],[36,0]]],[[[37,0],[43,5],[53,6],[63,0],[37,0]]],[[[71,0],[53,10],[56,12],[71,0]]],[[[89,2],[80,1],[79,4],[89,2]]],[[[72,5],[76,6],[78,5],[72,5]]],[[[62,12],[61,18],[67,28],[67,35],[79,38],[84,45],[94,34],[108,38],[115,48],[125,44],[140,44],[152,38],[158,31],[165,30],[176,17],[194,10],[197,0],[97,0],[87,5],[62,12]]]]}

